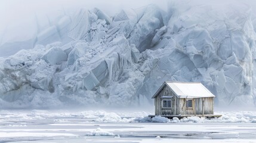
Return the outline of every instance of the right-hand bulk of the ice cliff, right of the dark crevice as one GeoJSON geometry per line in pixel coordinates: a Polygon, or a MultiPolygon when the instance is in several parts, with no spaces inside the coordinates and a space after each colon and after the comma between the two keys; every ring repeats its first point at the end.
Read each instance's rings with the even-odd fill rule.
{"type": "Polygon", "coordinates": [[[143,53],[150,57],[147,62],[157,64],[150,66],[141,93],[156,91],[159,79],[199,81],[217,95],[217,103],[255,102],[254,26],[248,7],[234,7],[224,12],[214,6],[174,12],[157,50],[143,53]]]}

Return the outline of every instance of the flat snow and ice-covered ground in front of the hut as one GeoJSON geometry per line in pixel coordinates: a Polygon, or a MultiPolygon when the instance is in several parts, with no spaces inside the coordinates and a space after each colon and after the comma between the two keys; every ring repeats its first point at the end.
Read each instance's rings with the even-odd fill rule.
{"type": "Polygon", "coordinates": [[[256,112],[219,119],[154,117],[146,111],[1,110],[0,142],[256,142],[256,112]]]}

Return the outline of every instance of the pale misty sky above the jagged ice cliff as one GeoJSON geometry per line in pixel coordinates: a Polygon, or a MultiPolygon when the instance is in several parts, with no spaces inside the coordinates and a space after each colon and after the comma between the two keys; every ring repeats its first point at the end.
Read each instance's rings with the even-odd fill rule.
{"type": "MultiPolygon", "coordinates": [[[[1,0],[0,1],[0,45],[4,42],[15,41],[16,39],[29,39],[35,30],[35,17],[39,18],[42,23],[46,22],[45,17],[54,19],[66,11],[75,11],[80,8],[92,9],[100,8],[101,11],[108,15],[114,15],[122,9],[140,8],[149,4],[156,4],[163,10],[167,10],[168,2],[175,0],[1,0]]],[[[178,0],[180,1],[180,0],[178,0]]],[[[183,0],[184,1],[184,0],[183,0]]],[[[236,2],[223,0],[187,0],[187,3],[217,3],[236,2]]],[[[255,6],[253,0],[244,0],[239,2],[248,3],[255,6]]]]}

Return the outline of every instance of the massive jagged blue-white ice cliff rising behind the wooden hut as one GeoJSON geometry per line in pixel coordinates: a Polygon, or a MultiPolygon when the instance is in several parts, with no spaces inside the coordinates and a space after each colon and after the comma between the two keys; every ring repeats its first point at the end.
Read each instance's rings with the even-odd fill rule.
{"type": "Polygon", "coordinates": [[[177,7],[63,17],[35,48],[0,58],[0,108],[153,104],[165,80],[202,82],[217,105],[254,105],[251,8],[177,7]]]}

